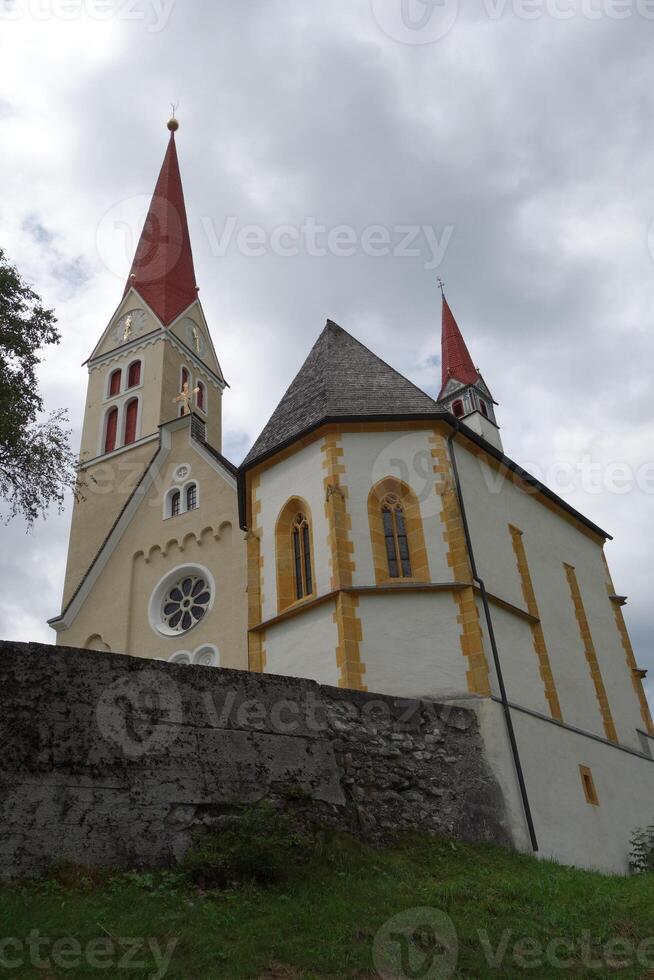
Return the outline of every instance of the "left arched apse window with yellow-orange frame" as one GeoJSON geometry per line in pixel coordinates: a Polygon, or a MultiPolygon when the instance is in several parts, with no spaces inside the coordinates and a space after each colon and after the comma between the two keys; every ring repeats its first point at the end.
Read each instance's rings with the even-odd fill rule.
{"type": "Polygon", "coordinates": [[[304,500],[292,497],[275,528],[277,608],[279,612],[314,594],[311,513],[304,500]]]}

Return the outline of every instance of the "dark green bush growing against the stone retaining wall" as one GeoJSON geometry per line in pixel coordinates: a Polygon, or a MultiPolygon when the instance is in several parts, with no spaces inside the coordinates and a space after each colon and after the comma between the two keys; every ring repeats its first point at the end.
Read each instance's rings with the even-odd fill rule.
{"type": "Polygon", "coordinates": [[[202,828],[184,860],[191,879],[205,888],[238,882],[282,881],[308,860],[312,843],[289,817],[269,803],[244,807],[224,826],[202,828]]]}

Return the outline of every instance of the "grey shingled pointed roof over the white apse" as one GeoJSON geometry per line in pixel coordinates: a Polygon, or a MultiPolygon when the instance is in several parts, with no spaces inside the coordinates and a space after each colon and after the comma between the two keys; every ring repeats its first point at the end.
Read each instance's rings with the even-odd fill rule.
{"type": "Polygon", "coordinates": [[[328,419],[406,418],[440,411],[429,395],[328,320],[243,466],[328,419]]]}

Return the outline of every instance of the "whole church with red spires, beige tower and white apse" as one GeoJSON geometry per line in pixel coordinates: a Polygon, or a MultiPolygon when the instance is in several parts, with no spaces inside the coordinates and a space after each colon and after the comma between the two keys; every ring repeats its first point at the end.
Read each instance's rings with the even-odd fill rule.
{"type": "Polygon", "coordinates": [[[328,320],[243,463],[226,459],[168,127],[86,362],[57,642],[465,704],[516,847],[626,871],[654,820],[654,725],[610,535],[505,455],[444,295],[436,400],[328,320]]]}

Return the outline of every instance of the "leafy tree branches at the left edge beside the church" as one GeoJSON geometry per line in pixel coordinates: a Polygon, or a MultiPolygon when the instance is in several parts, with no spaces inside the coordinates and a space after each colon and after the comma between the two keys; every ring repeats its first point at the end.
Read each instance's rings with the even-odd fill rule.
{"type": "Polygon", "coordinates": [[[75,488],[68,415],[41,417],[36,379],[41,348],[59,343],[56,322],[0,249],[0,498],[6,520],[22,516],[28,528],[52,504],[61,512],[75,488]]]}

